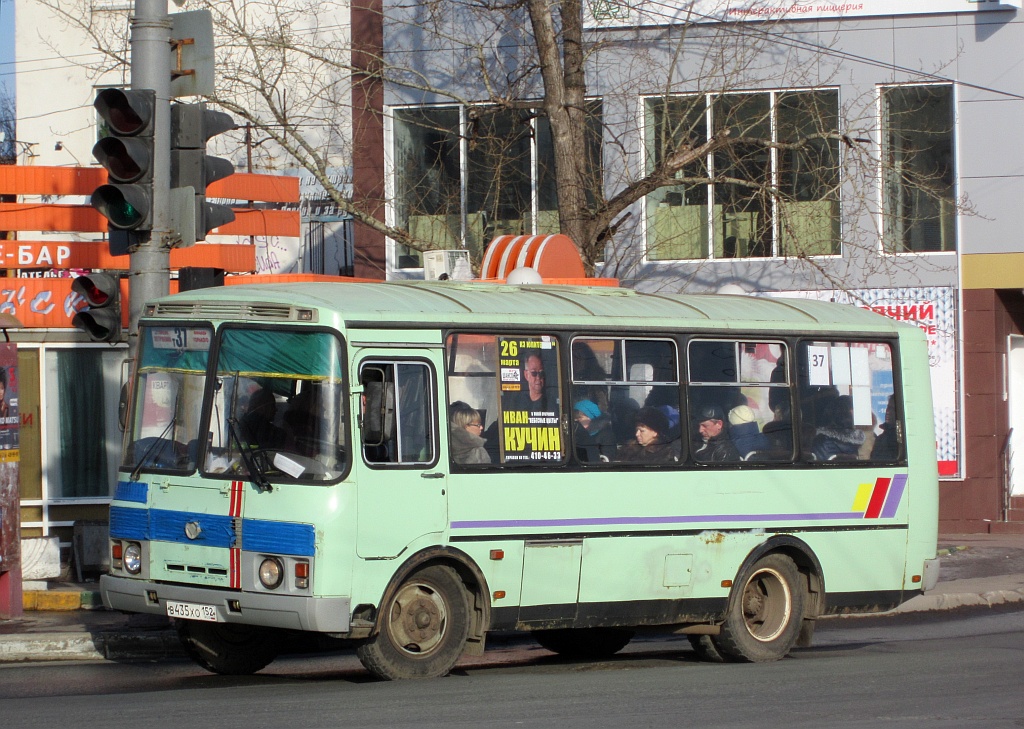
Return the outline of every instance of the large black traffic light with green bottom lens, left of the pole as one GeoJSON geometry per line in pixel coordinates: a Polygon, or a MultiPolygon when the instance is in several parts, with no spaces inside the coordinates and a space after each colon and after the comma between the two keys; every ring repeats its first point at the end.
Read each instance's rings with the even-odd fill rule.
{"type": "MultiPolygon", "coordinates": [[[[147,232],[153,227],[153,147],[156,91],[101,89],[93,106],[110,131],[92,147],[106,168],[108,183],[92,194],[92,207],[110,227],[147,232]]],[[[124,239],[124,233],[118,235],[124,239]]]]}

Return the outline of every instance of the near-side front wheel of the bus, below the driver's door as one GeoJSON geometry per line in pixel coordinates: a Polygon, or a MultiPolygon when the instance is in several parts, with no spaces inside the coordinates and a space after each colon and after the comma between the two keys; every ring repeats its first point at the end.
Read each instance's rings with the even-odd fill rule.
{"type": "Polygon", "coordinates": [[[377,678],[446,675],[469,637],[469,599],[459,575],[440,565],[410,575],[382,606],[377,629],[355,649],[377,678]]]}

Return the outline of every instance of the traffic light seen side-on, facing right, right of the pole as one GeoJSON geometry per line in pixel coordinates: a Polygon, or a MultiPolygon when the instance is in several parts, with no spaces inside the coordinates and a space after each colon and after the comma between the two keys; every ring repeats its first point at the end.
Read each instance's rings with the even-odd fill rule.
{"type": "MultiPolygon", "coordinates": [[[[206,200],[206,186],[234,174],[230,160],[210,157],[206,143],[223,132],[234,129],[234,120],[223,112],[208,110],[205,103],[171,104],[171,188],[191,187],[195,191],[196,241],[224,223],[234,220],[234,212],[226,205],[206,200]]],[[[186,231],[181,246],[191,245],[186,231]]]]}

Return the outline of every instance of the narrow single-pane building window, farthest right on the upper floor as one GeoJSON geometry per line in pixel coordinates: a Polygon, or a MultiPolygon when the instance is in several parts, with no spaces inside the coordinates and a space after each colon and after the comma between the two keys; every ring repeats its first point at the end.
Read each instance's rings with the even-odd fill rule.
{"type": "Polygon", "coordinates": [[[882,125],[886,252],[955,251],[952,87],[883,89],[882,125]]]}

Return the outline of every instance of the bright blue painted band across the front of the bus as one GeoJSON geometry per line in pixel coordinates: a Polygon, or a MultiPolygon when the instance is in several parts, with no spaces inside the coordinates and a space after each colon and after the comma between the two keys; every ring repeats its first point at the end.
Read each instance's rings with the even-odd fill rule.
{"type": "MultiPolygon", "coordinates": [[[[315,551],[311,524],[265,519],[243,519],[242,549],[311,557],[315,551]]],[[[165,509],[111,507],[111,537],[119,540],[154,540],[228,549],[234,547],[233,520],[229,516],[165,509]],[[185,524],[199,524],[195,540],[185,535],[185,524]]]]}

